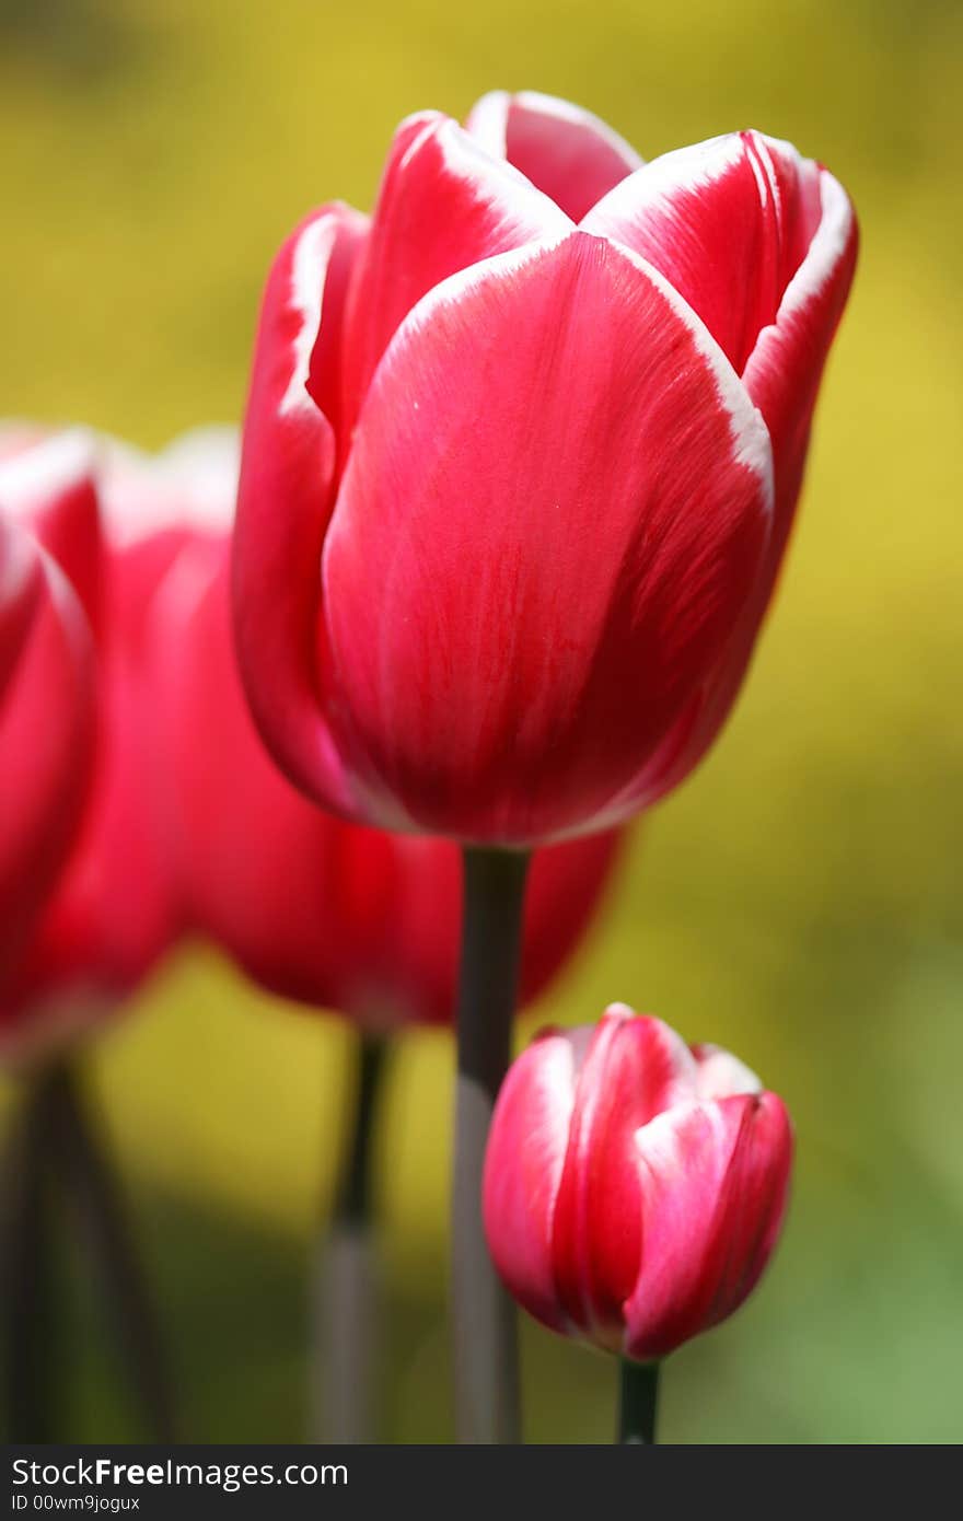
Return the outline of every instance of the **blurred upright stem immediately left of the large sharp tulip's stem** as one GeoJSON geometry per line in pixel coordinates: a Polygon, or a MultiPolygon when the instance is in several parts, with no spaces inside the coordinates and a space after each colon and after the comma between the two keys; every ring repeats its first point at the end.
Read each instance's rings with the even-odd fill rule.
{"type": "Polygon", "coordinates": [[[319,1243],[312,1392],[323,1442],[374,1440],[374,1363],[380,1302],[373,1153],[388,1042],[362,1034],[348,1098],[348,1135],[332,1221],[319,1243]]]}

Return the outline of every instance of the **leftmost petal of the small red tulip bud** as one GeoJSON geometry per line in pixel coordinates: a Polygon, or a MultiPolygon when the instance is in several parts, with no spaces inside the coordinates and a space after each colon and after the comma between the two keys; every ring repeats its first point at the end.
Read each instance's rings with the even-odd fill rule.
{"type": "Polygon", "coordinates": [[[590,1027],[548,1031],[513,1062],[494,1107],[482,1215],[491,1259],[543,1325],[564,1328],[555,1293],[552,1217],[590,1027]]]}

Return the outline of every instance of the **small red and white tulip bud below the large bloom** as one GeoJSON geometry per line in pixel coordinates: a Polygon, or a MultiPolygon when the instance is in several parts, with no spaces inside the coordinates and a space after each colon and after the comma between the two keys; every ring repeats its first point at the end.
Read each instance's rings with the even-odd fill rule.
{"type": "Polygon", "coordinates": [[[499,1094],[485,1234],[543,1325],[637,1361],[736,1310],[782,1223],[785,1106],[717,1046],[613,1005],[540,1036],[499,1094]]]}

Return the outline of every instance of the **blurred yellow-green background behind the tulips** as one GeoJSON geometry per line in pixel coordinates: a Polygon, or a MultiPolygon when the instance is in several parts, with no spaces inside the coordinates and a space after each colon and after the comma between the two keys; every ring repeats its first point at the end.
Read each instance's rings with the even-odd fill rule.
{"type": "MultiPolygon", "coordinates": [[[[321,199],[368,207],[403,114],[494,85],[569,96],[647,157],[759,126],[858,205],[748,686],[522,1031],[627,999],[732,1046],[796,1116],[780,1253],[669,1364],[665,1440],[963,1437],[961,68],[952,0],[0,0],[0,414],[146,446],[237,418],[281,236],[321,199]]],[[[91,1053],[193,1440],[304,1434],[345,1056],[336,1019],[199,948],[91,1053]]],[[[446,1034],[403,1039],[380,1136],[393,1440],[450,1437],[450,1078],[446,1034]]],[[[61,1273],[65,1434],[135,1439],[61,1273]]],[[[529,1439],[607,1440],[612,1375],[526,1328],[529,1439]]]]}

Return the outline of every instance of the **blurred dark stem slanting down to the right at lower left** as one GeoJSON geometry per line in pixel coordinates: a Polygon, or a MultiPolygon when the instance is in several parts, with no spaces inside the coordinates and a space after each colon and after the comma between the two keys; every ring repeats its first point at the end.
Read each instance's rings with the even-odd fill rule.
{"type": "Polygon", "coordinates": [[[158,1326],[99,1115],[75,1068],[58,1065],[49,1081],[56,1097],[53,1161],[76,1211],[116,1346],[152,1439],[173,1442],[173,1399],[158,1326]]]}

